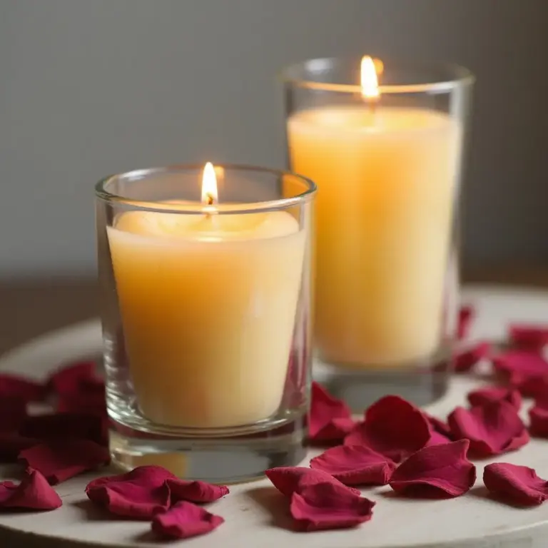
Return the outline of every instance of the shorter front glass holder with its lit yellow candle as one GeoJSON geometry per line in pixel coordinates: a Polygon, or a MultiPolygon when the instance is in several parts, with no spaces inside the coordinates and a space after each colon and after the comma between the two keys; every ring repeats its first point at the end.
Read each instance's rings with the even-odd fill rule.
{"type": "Polygon", "coordinates": [[[225,483],[303,459],[314,197],[247,166],[97,184],[113,462],[225,483]]]}

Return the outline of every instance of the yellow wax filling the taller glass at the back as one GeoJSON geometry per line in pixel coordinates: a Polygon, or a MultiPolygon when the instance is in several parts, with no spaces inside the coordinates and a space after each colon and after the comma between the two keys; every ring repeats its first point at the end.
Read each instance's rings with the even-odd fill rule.
{"type": "Polygon", "coordinates": [[[326,107],[288,120],[291,167],[318,185],[324,360],[401,365],[439,344],[460,134],[449,116],[418,108],[326,107]]]}

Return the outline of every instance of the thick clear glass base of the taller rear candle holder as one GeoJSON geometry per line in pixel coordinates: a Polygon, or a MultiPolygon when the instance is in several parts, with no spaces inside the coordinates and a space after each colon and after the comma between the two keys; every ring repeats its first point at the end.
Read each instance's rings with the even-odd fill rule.
{"type": "Polygon", "coordinates": [[[404,365],[352,367],[316,359],[313,376],[331,395],[344,400],[353,413],[385,395],[398,395],[420,407],[445,395],[449,388],[452,350],[443,345],[422,360],[404,365]]]}

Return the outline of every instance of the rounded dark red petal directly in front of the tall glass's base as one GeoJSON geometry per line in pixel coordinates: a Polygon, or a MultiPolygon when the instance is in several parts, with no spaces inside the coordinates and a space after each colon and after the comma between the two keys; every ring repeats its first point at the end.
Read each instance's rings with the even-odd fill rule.
{"type": "Polygon", "coordinates": [[[400,462],[425,447],[430,436],[430,424],[420,409],[399,396],[385,396],[365,411],[365,421],[345,437],[345,445],[365,445],[400,462]]]}

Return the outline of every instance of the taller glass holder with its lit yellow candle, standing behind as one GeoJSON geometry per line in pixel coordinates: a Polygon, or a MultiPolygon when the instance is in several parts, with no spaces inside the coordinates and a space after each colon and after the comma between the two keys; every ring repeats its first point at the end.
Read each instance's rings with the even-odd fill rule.
{"type": "Polygon", "coordinates": [[[447,390],[472,75],[314,59],[283,73],[288,161],[318,184],[315,375],[355,410],[447,390]]]}

